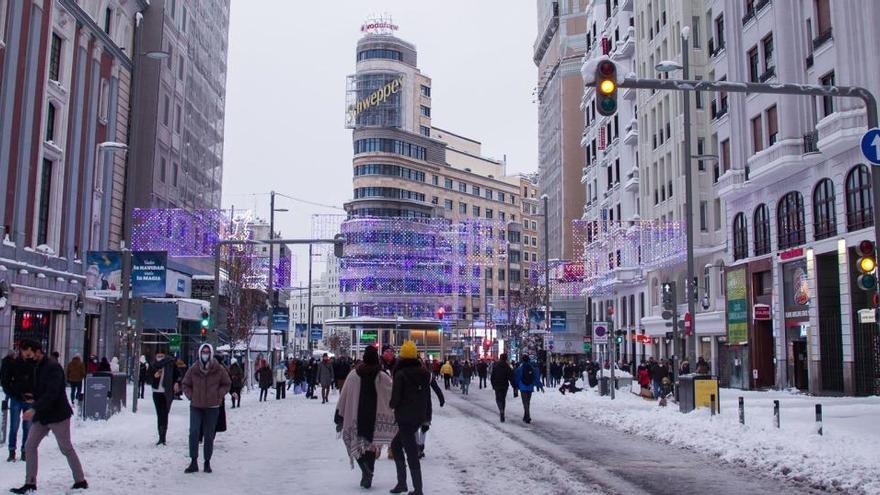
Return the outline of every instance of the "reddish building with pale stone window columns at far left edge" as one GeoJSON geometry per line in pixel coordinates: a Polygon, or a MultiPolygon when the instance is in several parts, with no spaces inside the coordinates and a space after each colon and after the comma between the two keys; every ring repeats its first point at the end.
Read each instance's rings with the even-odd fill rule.
{"type": "Polygon", "coordinates": [[[0,353],[109,355],[115,311],[82,260],[122,238],[132,33],[142,0],[0,1],[0,353]]]}

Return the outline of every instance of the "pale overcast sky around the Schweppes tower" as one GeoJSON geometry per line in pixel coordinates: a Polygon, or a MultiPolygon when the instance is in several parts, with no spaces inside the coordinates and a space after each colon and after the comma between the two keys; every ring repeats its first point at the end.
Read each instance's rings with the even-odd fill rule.
{"type": "MultiPolygon", "coordinates": [[[[533,0],[232,0],[223,205],[268,216],[272,189],[285,237],[311,234],[311,215],[343,213],[352,196],[345,77],[360,26],[388,13],[433,79],[432,121],[507,155],[510,173],[537,169],[533,0]]],[[[298,254],[304,280],[304,254],[298,254]]]]}

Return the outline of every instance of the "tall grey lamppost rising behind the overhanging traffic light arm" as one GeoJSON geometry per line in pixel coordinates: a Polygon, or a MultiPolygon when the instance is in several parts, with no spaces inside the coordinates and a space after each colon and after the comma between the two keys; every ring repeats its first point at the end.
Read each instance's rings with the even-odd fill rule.
{"type": "MultiPolygon", "coordinates": [[[[690,77],[690,41],[689,30],[682,29],[681,32],[681,61],[682,73],[685,79],[690,77]]],[[[691,92],[683,89],[682,93],[682,113],[684,114],[684,194],[685,194],[685,230],[687,235],[687,283],[685,283],[685,295],[688,303],[688,313],[691,315],[690,321],[690,339],[692,343],[691,351],[693,355],[689,359],[690,362],[696,361],[697,356],[697,308],[695,304],[695,296],[697,293],[696,284],[694,284],[694,184],[693,184],[693,160],[691,159],[691,92]]],[[[686,355],[687,350],[682,352],[686,355]]],[[[680,361],[680,358],[679,358],[680,361]]],[[[676,364],[676,367],[678,364],[676,364]]]]}

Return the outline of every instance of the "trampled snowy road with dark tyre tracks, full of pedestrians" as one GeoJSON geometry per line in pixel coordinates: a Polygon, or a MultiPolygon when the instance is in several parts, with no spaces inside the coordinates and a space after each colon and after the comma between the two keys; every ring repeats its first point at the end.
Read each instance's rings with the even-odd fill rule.
{"type": "MultiPolygon", "coordinates": [[[[426,493],[808,493],[802,487],[756,476],[711,457],[615,431],[588,420],[553,413],[553,401],[537,394],[534,422],[520,421],[522,406],[509,400],[500,424],[490,390],[448,393],[435,409],[423,460],[426,493]]],[[[92,487],[90,493],[364,493],[336,439],[331,403],[302,396],[257,401],[247,394],[228,409],[229,431],[217,436],[213,474],[184,474],[188,404],[172,407],[167,447],[157,447],[152,402],[138,414],[107,422],[74,424],[73,440],[92,487]]],[[[561,399],[561,398],[560,398],[561,399]]],[[[228,402],[227,402],[228,406],[228,402]]],[[[0,489],[21,484],[24,464],[0,464],[0,489]]],[[[377,464],[373,493],[394,485],[393,461],[377,464]]],[[[70,473],[52,438],[41,446],[39,493],[65,493],[70,473]]]]}

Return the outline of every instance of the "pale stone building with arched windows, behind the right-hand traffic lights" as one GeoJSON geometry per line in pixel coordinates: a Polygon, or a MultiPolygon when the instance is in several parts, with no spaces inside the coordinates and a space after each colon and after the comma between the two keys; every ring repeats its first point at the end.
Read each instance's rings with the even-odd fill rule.
{"type": "MultiPolygon", "coordinates": [[[[706,2],[694,13],[717,80],[863,86],[880,93],[877,2],[706,2]]],[[[695,30],[696,31],[696,30],[695,30]]],[[[874,239],[861,102],[707,94],[713,191],[726,203],[728,352],[733,387],[880,392],[876,324],[856,286],[856,246],[874,239]]],[[[724,287],[722,287],[724,290],[724,287]]]]}

